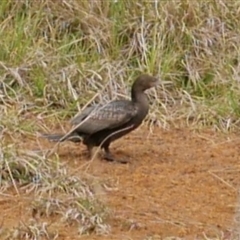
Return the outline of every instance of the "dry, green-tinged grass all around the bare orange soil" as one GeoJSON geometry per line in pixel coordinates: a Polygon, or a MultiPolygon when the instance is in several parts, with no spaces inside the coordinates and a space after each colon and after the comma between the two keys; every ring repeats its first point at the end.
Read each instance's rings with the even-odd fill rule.
{"type": "MultiPolygon", "coordinates": [[[[238,128],[239,11],[240,3],[228,0],[2,1],[2,192],[14,187],[21,194],[27,188],[37,211],[77,222],[81,214],[93,216],[90,227],[80,224],[80,232],[92,226],[108,231],[100,224],[101,213],[82,208],[82,199],[95,204],[88,184],[69,177],[58,159],[20,151],[18,138],[35,138],[37,131],[51,128],[52,120],[68,119],[90,102],[126,97],[140,72],[162,80],[149,92],[148,120],[162,127],[180,121],[238,128]]],[[[39,223],[23,224],[18,231],[19,239],[47,234],[39,223]]]]}

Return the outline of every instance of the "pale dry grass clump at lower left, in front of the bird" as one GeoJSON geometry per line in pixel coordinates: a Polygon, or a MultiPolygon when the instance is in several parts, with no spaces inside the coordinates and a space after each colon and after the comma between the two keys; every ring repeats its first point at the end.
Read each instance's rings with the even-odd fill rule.
{"type": "Polygon", "coordinates": [[[27,209],[31,219],[31,222],[21,220],[14,228],[3,227],[3,236],[6,232],[10,234],[6,239],[13,236],[17,239],[55,239],[58,231],[49,232],[47,227],[52,229],[52,218],[59,226],[75,226],[80,235],[110,231],[106,223],[108,211],[96,198],[89,181],[68,172],[58,158],[46,158],[40,150],[19,150],[14,144],[3,145],[1,192],[13,190],[29,202],[27,209]]]}

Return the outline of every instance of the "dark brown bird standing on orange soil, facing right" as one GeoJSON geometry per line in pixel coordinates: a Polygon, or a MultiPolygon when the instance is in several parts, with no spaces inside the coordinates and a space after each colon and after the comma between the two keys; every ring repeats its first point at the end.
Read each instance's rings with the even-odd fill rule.
{"type": "MultiPolygon", "coordinates": [[[[155,87],[159,80],[148,74],[140,75],[133,83],[131,100],[115,100],[105,105],[96,105],[77,114],[71,124],[74,129],[68,134],[43,134],[50,141],[82,142],[87,146],[89,157],[93,147],[103,148],[104,159],[116,161],[109,146],[114,140],[136,129],[149,110],[145,90],[155,87]]],[[[125,161],[120,161],[125,163],[125,161]]]]}

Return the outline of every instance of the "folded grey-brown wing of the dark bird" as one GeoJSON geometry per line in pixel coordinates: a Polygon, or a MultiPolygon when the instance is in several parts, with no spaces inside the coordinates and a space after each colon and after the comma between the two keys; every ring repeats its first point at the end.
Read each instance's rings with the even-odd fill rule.
{"type": "Polygon", "coordinates": [[[86,108],[71,123],[78,125],[78,132],[93,134],[103,129],[112,129],[127,123],[137,114],[137,107],[127,100],[117,100],[106,105],[86,108]]]}

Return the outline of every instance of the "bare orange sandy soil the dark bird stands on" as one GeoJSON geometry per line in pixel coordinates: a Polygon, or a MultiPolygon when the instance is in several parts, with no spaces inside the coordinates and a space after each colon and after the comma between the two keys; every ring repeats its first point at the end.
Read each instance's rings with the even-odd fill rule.
{"type": "MultiPolygon", "coordinates": [[[[29,141],[34,146],[34,140],[29,141]]],[[[45,148],[54,145],[39,141],[45,148]]],[[[96,193],[113,213],[108,220],[110,235],[81,239],[206,239],[204,235],[238,239],[232,238],[240,228],[234,220],[240,204],[240,137],[236,134],[184,128],[155,128],[149,134],[141,127],[114,142],[112,151],[129,164],[97,158],[86,165],[85,147],[70,142],[57,150],[70,170],[77,169],[80,176],[87,172],[101,182],[96,193]]],[[[4,225],[14,226],[24,219],[27,205],[24,198],[1,196],[4,225]]],[[[80,238],[74,226],[58,230],[58,239],[80,238]]]]}

